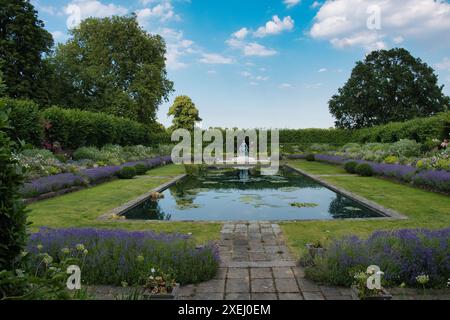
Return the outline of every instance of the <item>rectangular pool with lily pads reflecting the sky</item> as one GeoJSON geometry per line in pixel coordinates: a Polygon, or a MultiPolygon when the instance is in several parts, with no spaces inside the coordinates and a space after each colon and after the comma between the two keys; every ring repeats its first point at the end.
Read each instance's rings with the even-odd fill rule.
{"type": "Polygon", "coordinates": [[[237,221],[376,218],[381,214],[288,169],[212,169],[123,213],[129,220],[237,221]]]}

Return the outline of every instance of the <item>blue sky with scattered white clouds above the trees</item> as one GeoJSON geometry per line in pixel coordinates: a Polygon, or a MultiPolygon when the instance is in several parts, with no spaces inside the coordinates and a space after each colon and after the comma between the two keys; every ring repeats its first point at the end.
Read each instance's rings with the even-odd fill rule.
{"type": "Polygon", "coordinates": [[[169,78],[202,126],[327,128],[328,100],[357,60],[404,47],[450,94],[450,3],[434,0],[33,0],[56,41],[89,16],[136,12],[167,42],[169,78]],[[374,7],[374,5],[376,5],[374,7]],[[368,27],[367,22],[371,23],[368,27]],[[379,22],[379,24],[377,24],[379,22]],[[374,27],[375,26],[375,27],[374,27]]]}

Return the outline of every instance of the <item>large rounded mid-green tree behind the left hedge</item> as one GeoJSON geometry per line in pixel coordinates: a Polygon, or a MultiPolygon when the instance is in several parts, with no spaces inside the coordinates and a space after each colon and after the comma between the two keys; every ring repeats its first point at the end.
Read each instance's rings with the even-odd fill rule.
{"type": "Polygon", "coordinates": [[[142,30],[135,15],[89,18],[70,35],[51,59],[60,79],[53,104],[155,121],[173,91],[164,40],[142,30]]]}

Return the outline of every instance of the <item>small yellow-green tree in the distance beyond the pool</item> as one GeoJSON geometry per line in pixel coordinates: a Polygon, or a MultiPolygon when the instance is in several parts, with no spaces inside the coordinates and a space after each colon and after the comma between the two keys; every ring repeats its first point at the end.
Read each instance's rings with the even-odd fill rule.
{"type": "Polygon", "coordinates": [[[188,96],[178,96],[169,109],[168,116],[173,116],[172,129],[194,130],[195,123],[202,121],[198,109],[188,96]]]}

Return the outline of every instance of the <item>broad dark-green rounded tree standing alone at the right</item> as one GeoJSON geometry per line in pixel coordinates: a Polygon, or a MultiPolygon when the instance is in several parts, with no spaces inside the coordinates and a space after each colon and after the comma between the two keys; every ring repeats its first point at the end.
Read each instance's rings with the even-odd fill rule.
{"type": "Polygon", "coordinates": [[[405,49],[380,50],[356,63],[329,102],[338,128],[362,128],[434,115],[450,98],[434,70],[405,49]]]}

